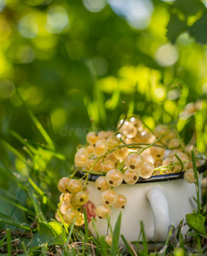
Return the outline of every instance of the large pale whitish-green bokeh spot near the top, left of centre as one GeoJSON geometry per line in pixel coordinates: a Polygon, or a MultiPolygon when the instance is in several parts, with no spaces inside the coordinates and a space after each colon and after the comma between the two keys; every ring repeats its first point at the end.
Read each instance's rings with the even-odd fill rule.
{"type": "Polygon", "coordinates": [[[62,6],[55,6],[49,9],[46,28],[51,33],[60,33],[69,27],[69,17],[66,9],[62,6]]]}

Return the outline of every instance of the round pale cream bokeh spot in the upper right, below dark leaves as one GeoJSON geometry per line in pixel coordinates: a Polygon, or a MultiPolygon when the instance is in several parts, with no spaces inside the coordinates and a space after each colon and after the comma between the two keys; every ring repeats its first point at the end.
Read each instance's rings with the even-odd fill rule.
{"type": "Polygon", "coordinates": [[[178,50],[174,45],[164,44],[158,48],[155,54],[155,60],[160,66],[169,67],[175,64],[179,55],[178,50]]]}

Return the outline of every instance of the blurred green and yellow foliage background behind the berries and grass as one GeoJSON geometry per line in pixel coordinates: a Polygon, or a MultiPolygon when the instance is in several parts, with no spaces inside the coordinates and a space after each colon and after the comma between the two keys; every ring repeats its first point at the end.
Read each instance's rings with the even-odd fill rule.
{"type": "MultiPolygon", "coordinates": [[[[85,131],[115,127],[123,101],[151,129],[175,125],[180,113],[181,137],[187,143],[196,132],[194,141],[205,152],[206,5],[198,0],[0,0],[1,160],[55,196],[75,148],[85,143],[85,131]],[[64,163],[39,146],[49,143],[17,91],[56,151],[66,156],[64,163]],[[5,142],[23,160],[14,159],[17,152],[5,154],[11,151],[5,142]],[[32,160],[33,169],[24,158],[27,167],[32,160]]],[[[1,183],[9,187],[9,181],[1,183]]]]}

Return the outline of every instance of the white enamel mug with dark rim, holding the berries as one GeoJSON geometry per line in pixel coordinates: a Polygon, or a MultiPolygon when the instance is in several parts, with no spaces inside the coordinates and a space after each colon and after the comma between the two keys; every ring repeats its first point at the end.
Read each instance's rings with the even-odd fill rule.
{"type": "MultiPolygon", "coordinates": [[[[199,172],[204,172],[206,166],[201,166],[199,172]]],[[[101,204],[101,192],[95,188],[95,179],[98,176],[89,177],[89,200],[95,206],[101,204]]],[[[201,177],[201,176],[200,176],[201,177]]],[[[138,183],[129,185],[126,183],[114,188],[118,194],[125,195],[127,205],[124,209],[112,207],[110,224],[112,229],[122,211],[120,234],[129,241],[137,241],[141,233],[141,221],[144,224],[147,241],[165,241],[170,225],[175,227],[185,218],[187,213],[197,211],[196,187],[194,183],[187,183],[183,178],[183,172],[153,176],[148,179],[140,179],[138,183]]],[[[107,220],[95,217],[95,227],[100,235],[106,236],[108,227],[107,220]]],[[[96,236],[95,229],[89,222],[89,230],[92,236],[96,236]]],[[[181,230],[186,234],[187,225],[181,230]]],[[[119,240],[119,246],[124,241],[119,240]]]]}

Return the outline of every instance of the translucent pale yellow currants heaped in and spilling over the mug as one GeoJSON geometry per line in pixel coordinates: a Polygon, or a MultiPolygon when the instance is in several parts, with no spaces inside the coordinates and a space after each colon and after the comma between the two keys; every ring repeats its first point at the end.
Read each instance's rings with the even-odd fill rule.
{"type": "MultiPolygon", "coordinates": [[[[148,131],[141,119],[131,117],[118,124],[117,131],[90,131],[87,145],[79,147],[74,157],[75,171],[85,173],[82,180],[63,177],[58,183],[59,210],[67,224],[76,218],[77,225],[83,224],[83,205],[89,201],[86,185],[89,173],[99,175],[95,187],[101,191],[102,204],[95,208],[99,218],[108,218],[111,208],[124,208],[127,198],[118,195],[115,187],[123,182],[135,184],[140,177],[185,171],[187,183],[194,183],[193,162],[190,150],[167,125],[158,125],[148,131]],[[79,211],[78,211],[79,210],[79,211]]],[[[197,165],[200,162],[198,160],[197,165]]],[[[60,216],[56,213],[56,218],[60,216]]],[[[110,239],[108,239],[111,241],[110,239]]]]}

